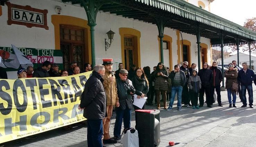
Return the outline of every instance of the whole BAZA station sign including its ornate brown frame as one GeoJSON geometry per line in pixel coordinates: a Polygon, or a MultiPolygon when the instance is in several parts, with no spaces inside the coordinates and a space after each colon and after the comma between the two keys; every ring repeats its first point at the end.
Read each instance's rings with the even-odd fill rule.
{"type": "Polygon", "coordinates": [[[8,25],[24,25],[28,28],[40,27],[49,29],[47,26],[48,10],[31,8],[30,6],[20,6],[6,2],[8,6],[8,25]]]}

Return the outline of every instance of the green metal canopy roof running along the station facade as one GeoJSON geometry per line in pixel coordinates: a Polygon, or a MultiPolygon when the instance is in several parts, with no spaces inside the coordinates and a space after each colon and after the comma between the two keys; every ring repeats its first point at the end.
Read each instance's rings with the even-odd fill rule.
{"type": "MultiPolygon", "coordinates": [[[[72,4],[88,4],[92,0],[62,0],[72,4]],[[81,3],[81,1],[83,1],[81,3]]],[[[201,37],[211,39],[212,44],[236,43],[256,40],[256,33],[227,19],[221,18],[184,0],[93,0],[95,10],[114,13],[126,18],[157,24],[157,18],[165,19],[165,27],[196,35],[202,29],[201,37]]]]}

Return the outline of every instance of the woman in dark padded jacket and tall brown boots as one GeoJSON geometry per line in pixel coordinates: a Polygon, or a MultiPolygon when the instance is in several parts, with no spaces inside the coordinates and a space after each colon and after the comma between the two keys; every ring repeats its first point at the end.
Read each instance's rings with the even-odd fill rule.
{"type": "Polygon", "coordinates": [[[157,109],[160,109],[160,92],[163,98],[163,106],[166,109],[166,91],[168,90],[168,72],[162,62],[159,62],[155,71],[155,98],[157,102],[157,109]]]}

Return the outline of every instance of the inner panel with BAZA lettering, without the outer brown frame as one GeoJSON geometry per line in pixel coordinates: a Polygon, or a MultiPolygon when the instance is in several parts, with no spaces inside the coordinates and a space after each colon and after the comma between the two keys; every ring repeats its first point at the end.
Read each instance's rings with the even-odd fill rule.
{"type": "Polygon", "coordinates": [[[43,25],[43,13],[11,8],[11,19],[43,25]]]}

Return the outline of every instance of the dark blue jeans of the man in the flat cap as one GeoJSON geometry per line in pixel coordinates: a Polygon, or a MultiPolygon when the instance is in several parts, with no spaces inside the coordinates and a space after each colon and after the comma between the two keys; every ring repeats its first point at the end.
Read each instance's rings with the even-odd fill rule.
{"type": "Polygon", "coordinates": [[[122,121],[125,129],[131,125],[131,110],[126,107],[125,110],[116,110],[116,122],[114,126],[114,136],[121,135],[122,121]]]}

